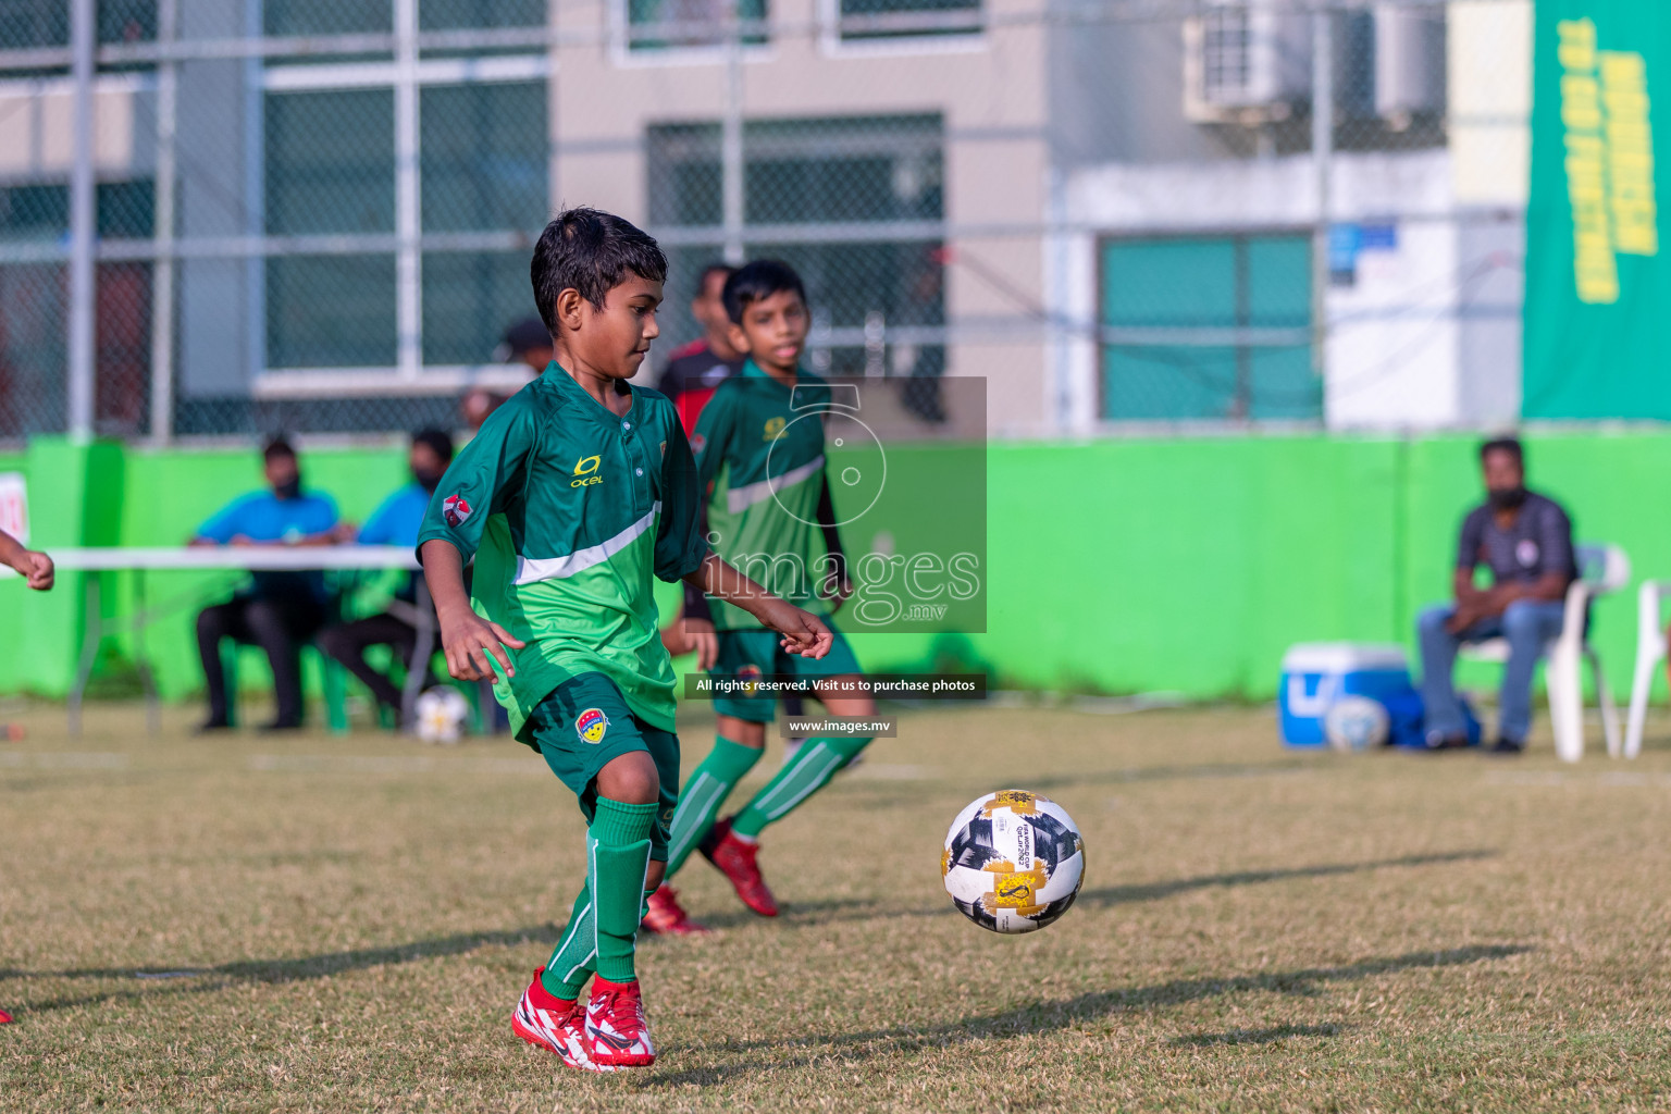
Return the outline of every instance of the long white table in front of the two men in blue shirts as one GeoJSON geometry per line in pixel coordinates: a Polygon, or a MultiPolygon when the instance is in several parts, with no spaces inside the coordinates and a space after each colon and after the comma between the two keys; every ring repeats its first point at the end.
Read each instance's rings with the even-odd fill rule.
{"type": "MultiPolygon", "coordinates": [[[[87,578],[87,630],[82,640],[82,656],[75,670],[75,683],[70,686],[70,733],[82,728],[82,698],[87,695],[87,680],[92,676],[99,646],[105,638],[132,631],[134,658],[139,668],[140,683],[145,688],[145,725],[157,730],[157,686],[145,656],[145,626],[169,608],[149,611],[145,608],[145,573],[149,571],[192,571],[192,570],[227,570],[227,571],[311,571],[311,570],[391,570],[404,568],[416,571],[418,558],[406,546],[179,546],[179,548],[99,548],[99,549],[52,549],[53,565],[62,573],[132,573],[134,575],[134,615],[127,618],[104,618],[100,613],[99,578],[87,578]]],[[[434,608],[429,605],[429,590],[423,576],[413,578],[418,588],[416,603],[411,608],[411,623],[418,630],[418,648],[413,655],[413,668],[406,671],[406,688],[401,693],[401,713],[409,720],[418,693],[423,690],[424,663],[434,653],[436,626],[434,608]]]]}

